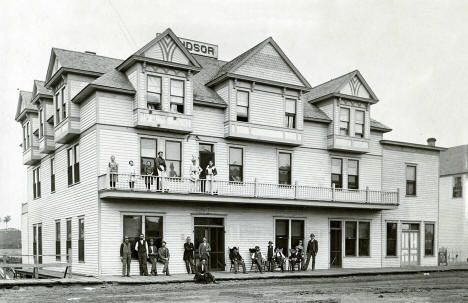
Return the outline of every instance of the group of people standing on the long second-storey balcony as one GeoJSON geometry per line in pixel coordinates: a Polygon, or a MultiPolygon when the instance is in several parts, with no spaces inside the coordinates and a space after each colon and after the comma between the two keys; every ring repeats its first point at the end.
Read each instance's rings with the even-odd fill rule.
{"type": "MultiPolygon", "coordinates": [[[[166,185],[166,177],[176,178],[180,177],[175,171],[174,164],[169,164],[169,172],[167,172],[166,160],[164,159],[164,153],[162,151],[158,152],[158,157],[155,160],[155,164],[151,161],[144,162],[142,167],[142,172],[144,174],[143,178],[145,180],[145,187],[147,190],[150,190],[154,184],[154,179],[156,179],[156,190],[157,191],[168,191],[166,185]]],[[[115,160],[115,156],[110,157],[110,162],[108,164],[109,172],[109,185],[110,188],[116,188],[118,177],[119,177],[119,164],[115,160]]],[[[218,174],[216,166],[213,161],[209,161],[207,167],[203,170],[197,164],[197,158],[192,158],[192,166],[190,167],[190,181],[192,182],[192,191],[194,192],[208,192],[216,193],[215,188],[215,176],[218,174]],[[205,179],[203,182],[198,182],[200,180],[200,174],[204,172],[205,179]]],[[[132,160],[128,161],[128,187],[130,189],[135,188],[135,179],[136,179],[136,169],[135,164],[132,160]]]]}

